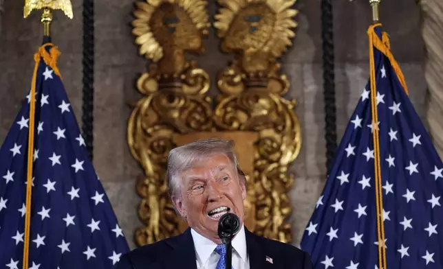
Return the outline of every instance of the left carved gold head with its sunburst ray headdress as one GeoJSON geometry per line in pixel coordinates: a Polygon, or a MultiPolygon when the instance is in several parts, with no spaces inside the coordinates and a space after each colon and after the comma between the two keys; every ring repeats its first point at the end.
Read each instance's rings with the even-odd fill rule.
{"type": "MultiPolygon", "coordinates": [[[[132,25],[141,55],[153,62],[176,58],[184,68],[184,50],[202,50],[209,26],[205,0],[146,0],[136,5],[132,25]]],[[[173,66],[171,72],[180,68],[173,66]]]]}

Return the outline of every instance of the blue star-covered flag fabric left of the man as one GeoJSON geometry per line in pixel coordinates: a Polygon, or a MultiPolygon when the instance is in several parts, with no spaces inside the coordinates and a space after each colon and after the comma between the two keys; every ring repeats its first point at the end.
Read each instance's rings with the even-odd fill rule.
{"type": "MultiPolygon", "coordinates": [[[[0,268],[22,268],[30,99],[0,149],[0,268]]],[[[35,101],[29,268],[113,268],[129,251],[125,236],[61,78],[43,60],[35,101]]]]}

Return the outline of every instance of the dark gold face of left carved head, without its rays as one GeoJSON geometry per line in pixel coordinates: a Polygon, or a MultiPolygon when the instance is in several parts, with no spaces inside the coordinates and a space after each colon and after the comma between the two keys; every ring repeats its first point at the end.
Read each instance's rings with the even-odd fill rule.
{"type": "Polygon", "coordinates": [[[162,3],[153,12],[149,24],[153,37],[165,51],[202,49],[201,34],[180,5],[162,3]]]}

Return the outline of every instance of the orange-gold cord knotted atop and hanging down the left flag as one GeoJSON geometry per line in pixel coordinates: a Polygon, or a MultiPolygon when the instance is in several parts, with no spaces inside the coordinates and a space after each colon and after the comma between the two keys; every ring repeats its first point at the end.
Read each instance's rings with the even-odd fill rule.
{"type": "Polygon", "coordinates": [[[32,201],[32,166],[34,164],[34,132],[35,132],[35,93],[37,82],[37,71],[39,70],[40,58],[43,58],[46,65],[49,65],[58,76],[60,71],[56,67],[56,60],[60,55],[60,51],[56,47],[50,49],[50,54],[47,53],[45,47],[52,46],[47,43],[39,47],[39,51],[34,54],[34,73],[32,75],[32,85],[30,93],[30,124],[28,134],[28,175],[26,178],[26,213],[25,213],[25,235],[23,239],[23,269],[29,268],[29,250],[30,250],[30,233],[31,233],[31,201],[32,201]]]}

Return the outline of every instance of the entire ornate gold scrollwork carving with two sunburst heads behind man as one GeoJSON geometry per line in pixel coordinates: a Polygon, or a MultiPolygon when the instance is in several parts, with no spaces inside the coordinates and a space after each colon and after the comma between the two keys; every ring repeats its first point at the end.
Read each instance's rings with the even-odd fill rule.
{"type": "Polygon", "coordinates": [[[223,95],[217,97],[215,108],[206,95],[208,75],[195,62],[184,60],[185,50],[202,49],[201,36],[206,28],[197,25],[207,25],[206,19],[171,19],[171,14],[190,17],[197,13],[193,8],[201,10],[204,4],[197,0],[189,5],[184,2],[138,4],[137,23],[133,23],[140,54],[154,62],[138,80],[138,90],[145,96],[137,102],[128,126],[131,152],[144,168],[137,190],[142,197],[138,213],[145,226],[136,231],[136,242],[149,244],[186,227],[175,215],[166,191],[166,158],[173,147],[207,137],[236,141],[248,182],[248,229],[290,242],[286,220],[291,207],[286,193],[294,177],[288,175],[288,165],[299,154],[301,130],[293,111],[295,101],[281,97],[288,91],[289,82],[278,73],[277,57],[294,36],[290,30],[295,26],[291,18],[296,12],[290,9],[294,1],[220,1],[224,8],[217,15],[219,36],[224,38],[224,49],[235,51],[239,58],[219,76],[217,84],[223,95]],[[152,22],[154,19],[157,23],[152,22]],[[160,23],[164,21],[176,22],[173,27],[177,29],[189,29],[188,34],[175,36],[175,30],[167,30],[170,23],[160,23]],[[158,28],[150,30],[154,29],[151,25],[158,28]],[[199,41],[190,46],[186,40],[199,41]],[[167,46],[169,49],[164,49],[167,46]]]}

